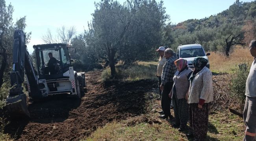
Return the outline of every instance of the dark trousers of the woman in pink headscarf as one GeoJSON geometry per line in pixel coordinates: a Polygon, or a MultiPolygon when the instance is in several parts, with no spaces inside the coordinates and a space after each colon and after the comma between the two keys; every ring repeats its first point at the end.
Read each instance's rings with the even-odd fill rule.
{"type": "Polygon", "coordinates": [[[180,127],[186,127],[189,119],[187,100],[177,98],[175,87],[173,87],[173,110],[176,124],[180,124],[180,127]]]}

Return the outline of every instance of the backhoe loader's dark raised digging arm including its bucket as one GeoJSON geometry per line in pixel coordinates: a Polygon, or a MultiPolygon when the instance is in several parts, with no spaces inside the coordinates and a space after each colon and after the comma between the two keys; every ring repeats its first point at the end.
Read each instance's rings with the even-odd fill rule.
{"type": "Polygon", "coordinates": [[[13,69],[10,73],[11,89],[6,99],[6,109],[12,117],[30,117],[26,94],[22,91],[24,75],[28,78],[33,97],[40,98],[37,72],[35,71],[26,45],[25,34],[22,30],[15,30],[13,43],[13,69]]]}

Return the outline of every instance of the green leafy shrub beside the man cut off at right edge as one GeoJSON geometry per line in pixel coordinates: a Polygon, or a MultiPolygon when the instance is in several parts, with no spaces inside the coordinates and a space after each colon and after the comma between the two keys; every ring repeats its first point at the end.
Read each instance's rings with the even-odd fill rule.
{"type": "Polygon", "coordinates": [[[237,67],[234,70],[230,84],[233,96],[238,98],[240,101],[245,99],[245,85],[250,69],[248,64],[245,65],[241,65],[239,68],[237,67]]]}

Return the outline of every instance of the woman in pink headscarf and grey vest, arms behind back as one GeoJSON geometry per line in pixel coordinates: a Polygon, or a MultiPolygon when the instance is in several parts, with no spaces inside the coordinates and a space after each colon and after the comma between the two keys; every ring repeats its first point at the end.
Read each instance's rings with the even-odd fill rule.
{"type": "Polygon", "coordinates": [[[187,60],[182,58],[174,61],[174,64],[177,66],[177,71],[173,77],[174,84],[169,97],[173,99],[174,127],[179,127],[178,130],[183,131],[189,119],[186,94],[189,90],[188,76],[193,70],[187,67],[187,60]]]}

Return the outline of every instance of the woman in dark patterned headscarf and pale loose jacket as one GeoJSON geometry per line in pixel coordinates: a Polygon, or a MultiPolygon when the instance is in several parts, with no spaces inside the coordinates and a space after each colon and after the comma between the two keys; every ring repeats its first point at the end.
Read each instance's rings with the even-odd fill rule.
{"type": "Polygon", "coordinates": [[[196,141],[204,141],[208,130],[209,104],[213,101],[212,74],[206,67],[208,60],[197,57],[192,61],[195,70],[189,77],[189,134],[196,141]]]}

